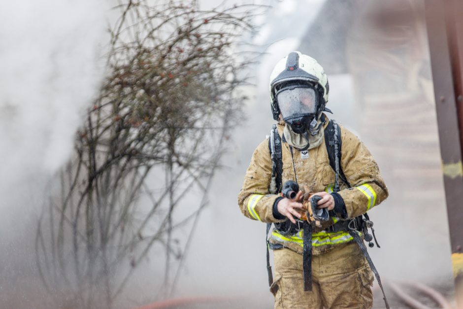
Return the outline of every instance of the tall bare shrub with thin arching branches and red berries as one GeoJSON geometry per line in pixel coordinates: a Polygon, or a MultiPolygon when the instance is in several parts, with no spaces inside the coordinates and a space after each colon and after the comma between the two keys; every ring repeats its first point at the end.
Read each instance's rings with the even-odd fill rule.
{"type": "Polygon", "coordinates": [[[172,287],[188,244],[172,231],[197,222],[245,99],[237,89],[250,60],[236,44],[255,6],[129,0],[116,9],[108,77],[37,228],[43,283],[71,307],[112,307],[155,243],[172,287]],[[202,199],[185,201],[190,190],[202,199]]]}

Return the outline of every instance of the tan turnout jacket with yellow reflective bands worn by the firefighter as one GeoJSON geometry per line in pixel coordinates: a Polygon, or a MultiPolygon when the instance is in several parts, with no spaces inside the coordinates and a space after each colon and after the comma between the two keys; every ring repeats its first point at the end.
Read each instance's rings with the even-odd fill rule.
{"type": "MultiPolygon", "coordinates": [[[[328,117],[324,127],[328,125],[328,117]]],[[[339,195],[346,205],[348,219],[362,215],[373,206],[380,204],[388,196],[386,184],[365,145],[349,130],[341,128],[341,168],[349,181],[351,188],[339,179],[339,195]]],[[[283,134],[284,124],[278,124],[280,137],[283,134]]],[[[299,187],[307,185],[312,193],[327,191],[332,192],[335,181],[335,173],[330,166],[330,161],[325,145],[325,140],[320,146],[308,150],[308,157],[301,156],[301,152],[293,149],[293,160],[290,147],[282,143],[283,174],[282,183],[287,180],[296,181],[295,172],[298,177],[299,187]]],[[[251,163],[244,177],[244,184],[238,195],[238,205],[241,212],[248,218],[262,222],[279,222],[273,217],[272,206],[279,195],[269,194],[272,171],[272,161],[268,149],[268,138],[256,148],[252,155],[251,163]]],[[[346,232],[327,233],[326,229],[337,222],[339,218],[332,217],[331,220],[315,229],[312,234],[313,254],[317,255],[330,250],[333,245],[353,241],[346,232]]],[[[273,230],[270,235],[270,242],[280,243],[285,247],[302,253],[302,230],[293,236],[283,236],[273,230]]]]}

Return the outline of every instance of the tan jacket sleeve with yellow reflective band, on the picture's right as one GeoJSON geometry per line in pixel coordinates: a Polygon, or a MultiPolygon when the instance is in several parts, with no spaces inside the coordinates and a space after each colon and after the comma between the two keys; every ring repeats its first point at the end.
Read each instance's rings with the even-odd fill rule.
{"type": "Polygon", "coordinates": [[[351,188],[338,194],[344,200],[347,217],[364,214],[388,197],[388,189],[371,153],[358,137],[341,126],[341,167],[351,188]]]}

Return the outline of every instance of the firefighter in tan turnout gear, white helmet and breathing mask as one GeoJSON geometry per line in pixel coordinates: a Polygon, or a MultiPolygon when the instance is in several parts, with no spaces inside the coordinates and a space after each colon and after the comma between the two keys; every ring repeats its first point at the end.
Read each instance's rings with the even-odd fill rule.
{"type": "Polygon", "coordinates": [[[291,52],[276,64],[270,76],[275,137],[266,138],[254,151],[238,195],[246,217],[276,226],[268,238],[275,265],[270,286],[275,308],[371,308],[373,303],[373,272],[355,233],[363,245],[362,215],[384,201],[388,190],[365,145],[329,121],[324,112],[330,111],[328,93],[327,75],[313,58],[291,52]],[[335,136],[327,134],[329,125],[340,136],[327,143],[335,136]],[[340,147],[334,151],[333,144],[340,147]],[[280,155],[272,152],[276,147],[280,155]],[[306,211],[302,190],[293,199],[280,194],[281,184],[288,180],[320,196],[317,209],[330,215],[321,225],[310,226],[311,238],[301,227],[306,211]],[[307,246],[311,244],[309,277],[304,232],[307,246]]]}

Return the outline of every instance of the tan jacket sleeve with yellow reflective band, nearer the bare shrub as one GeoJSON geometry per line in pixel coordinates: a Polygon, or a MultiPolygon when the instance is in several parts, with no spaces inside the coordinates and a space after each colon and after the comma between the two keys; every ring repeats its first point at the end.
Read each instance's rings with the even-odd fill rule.
{"type": "Polygon", "coordinates": [[[246,217],[267,223],[285,221],[273,216],[272,207],[278,195],[268,192],[271,173],[272,161],[268,139],[265,139],[252,155],[243,187],[238,194],[239,208],[246,217]]]}

